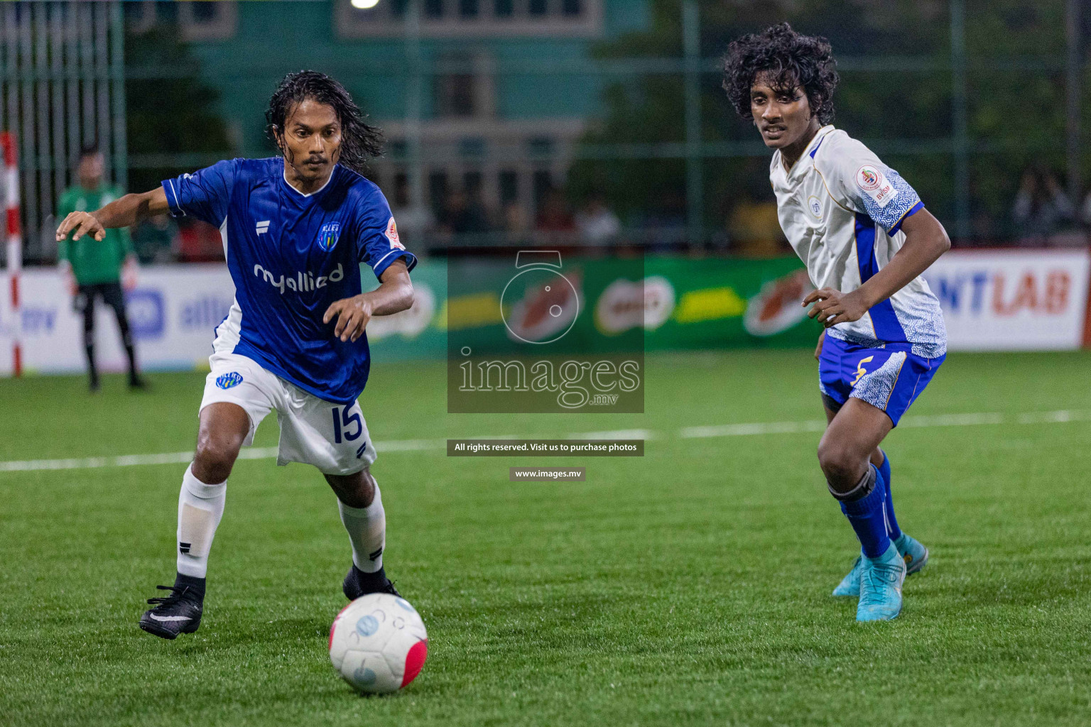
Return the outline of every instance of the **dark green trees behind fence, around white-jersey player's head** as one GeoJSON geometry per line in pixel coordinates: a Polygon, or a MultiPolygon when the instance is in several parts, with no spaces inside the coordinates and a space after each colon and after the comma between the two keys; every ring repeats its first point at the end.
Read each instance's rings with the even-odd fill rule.
{"type": "MultiPolygon", "coordinates": [[[[682,57],[681,0],[650,1],[648,29],[600,44],[597,58],[682,57]]],[[[699,9],[700,52],[706,59],[722,57],[733,38],[784,20],[802,33],[826,36],[841,74],[834,123],[899,169],[940,219],[951,219],[948,2],[699,0],[699,9]]],[[[970,184],[978,234],[1010,232],[1010,203],[1028,165],[1064,172],[1064,13],[1059,0],[967,3],[970,184]]],[[[703,141],[742,143],[752,156],[704,160],[705,221],[712,234],[722,230],[740,198],[771,198],[769,153],[753,126],[736,117],[721,80],[712,72],[700,77],[703,141]]],[[[612,83],[603,94],[606,114],[584,141],[683,142],[683,94],[678,74],[633,75],[612,83]]],[[[630,223],[640,223],[646,214],[676,207],[679,195],[684,198],[685,163],[676,158],[583,160],[573,166],[570,180],[573,196],[602,190],[630,223]]]]}

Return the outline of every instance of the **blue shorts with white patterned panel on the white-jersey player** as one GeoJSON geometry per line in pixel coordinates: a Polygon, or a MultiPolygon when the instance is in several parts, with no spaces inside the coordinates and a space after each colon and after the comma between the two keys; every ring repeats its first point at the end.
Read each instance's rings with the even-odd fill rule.
{"type": "Polygon", "coordinates": [[[827,334],[818,358],[818,389],[837,404],[835,410],[855,397],[885,411],[898,426],[947,358],[925,359],[911,349],[911,343],[868,349],[827,334]]]}

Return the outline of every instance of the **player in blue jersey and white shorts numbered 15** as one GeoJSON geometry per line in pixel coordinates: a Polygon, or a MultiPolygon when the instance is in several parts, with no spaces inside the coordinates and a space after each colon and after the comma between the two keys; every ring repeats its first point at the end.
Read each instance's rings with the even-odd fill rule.
{"type": "Polygon", "coordinates": [[[224,240],[235,303],[216,327],[196,452],[182,477],[178,572],[173,586],[157,586],[170,595],[148,599],[155,607],[140,621],[164,639],[201,623],[228,475],[273,410],[277,463],[313,464],[337,496],[352,547],[345,595],[397,593],[383,570],[386,516],[357,397],[371,365],[368,322],[410,307],[417,258],[398,240],[382,192],[359,173],[380,153],[381,134],[339,83],[312,71],[290,74],[266,117],[280,156],[220,161],[72,213],[57,229],[58,240],[101,240],[107,228],[169,211],[215,225],[224,240]],[[374,291],[361,292],[361,263],[380,280],[374,291]]]}

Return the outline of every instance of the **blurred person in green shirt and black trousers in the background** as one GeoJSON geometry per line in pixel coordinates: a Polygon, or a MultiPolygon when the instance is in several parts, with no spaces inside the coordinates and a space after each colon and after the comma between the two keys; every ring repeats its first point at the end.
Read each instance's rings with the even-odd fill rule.
{"type": "MultiPolygon", "coordinates": [[[[73,211],[101,209],[121,196],[117,187],[103,183],[105,162],[97,147],[84,147],[80,152],[79,183],[61,195],[57,216],[64,219],[73,211]]],[[[106,230],[101,240],[83,235],[75,242],[62,240],[58,259],[61,269],[69,276],[70,288],[75,294],[75,310],[83,313],[83,346],[87,351],[87,374],[91,390],[98,390],[98,368],[95,366],[95,299],[113,308],[118,317],[121,341],[129,356],[129,386],[144,388],[144,381],[136,371],[136,353],[133,350],[129,317],[125,315],[124,294],[121,292],[121,266],[127,262],[135,267],[132,242],[127,228],[106,230]],[[74,280],[73,280],[74,278],[74,280]]]]}

